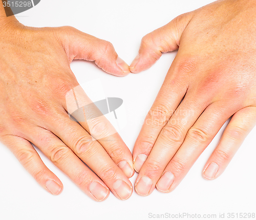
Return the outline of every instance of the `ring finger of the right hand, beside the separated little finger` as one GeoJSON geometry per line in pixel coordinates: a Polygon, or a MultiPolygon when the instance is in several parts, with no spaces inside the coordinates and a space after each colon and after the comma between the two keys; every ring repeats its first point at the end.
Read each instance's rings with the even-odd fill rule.
{"type": "Polygon", "coordinates": [[[178,152],[165,167],[163,175],[156,184],[159,191],[169,192],[178,186],[225,121],[234,112],[236,112],[236,108],[223,108],[223,105],[218,102],[205,109],[196,123],[188,130],[178,152]]]}

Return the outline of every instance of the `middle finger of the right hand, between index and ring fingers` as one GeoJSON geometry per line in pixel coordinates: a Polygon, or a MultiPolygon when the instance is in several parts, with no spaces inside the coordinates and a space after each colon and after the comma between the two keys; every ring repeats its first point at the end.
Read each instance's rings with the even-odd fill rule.
{"type": "Polygon", "coordinates": [[[148,195],[155,189],[164,168],[178,151],[187,131],[207,105],[208,103],[202,99],[185,96],[160,132],[150,155],[141,167],[135,183],[135,189],[140,195],[148,195]]]}

